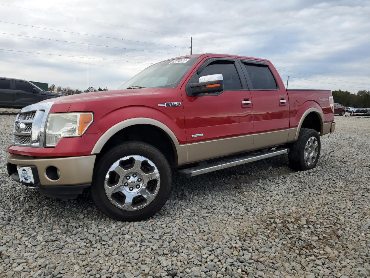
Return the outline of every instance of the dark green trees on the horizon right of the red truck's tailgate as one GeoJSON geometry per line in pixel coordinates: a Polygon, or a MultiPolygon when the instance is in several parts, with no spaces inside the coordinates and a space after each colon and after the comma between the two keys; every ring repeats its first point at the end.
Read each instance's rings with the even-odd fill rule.
{"type": "Polygon", "coordinates": [[[348,91],[335,90],[332,94],[335,103],[340,103],[346,107],[370,107],[370,91],[361,90],[353,94],[348,91]]]}

